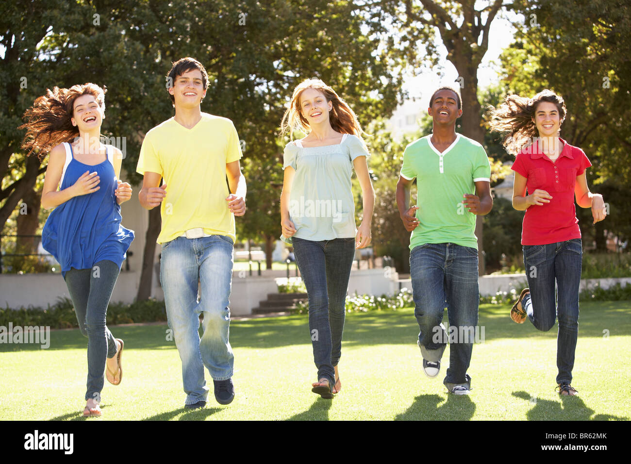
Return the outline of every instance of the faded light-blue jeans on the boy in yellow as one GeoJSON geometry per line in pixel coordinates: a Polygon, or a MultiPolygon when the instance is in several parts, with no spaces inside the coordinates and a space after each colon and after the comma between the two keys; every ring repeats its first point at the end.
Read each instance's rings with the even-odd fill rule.
{"type": "Polygon", "coordinates": [[[160,283],[168,326],[182,360],[186,404],[206,401],[204,366],[214,380],[232,377],[234,357],[228,342],[232,285],[232,239],[211,235],[162,244],[160,283]],[[198,281],[201,295],[198,300],[198,281]],[[199,314],[203,335],[199,338],[199,314]]]}

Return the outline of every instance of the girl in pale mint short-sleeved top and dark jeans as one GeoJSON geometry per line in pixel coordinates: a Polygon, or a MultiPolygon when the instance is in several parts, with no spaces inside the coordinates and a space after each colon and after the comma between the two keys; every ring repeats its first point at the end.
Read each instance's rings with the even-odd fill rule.
{"type": "Polygon", "coordinates": [[[283,133],[307,133],[285,146],[281,238],[293,245],[309,295],[309,330],[317,367],[312,391],[333,398],[341,389],[338,362],[355,249],[370,244],[375,194],[366,164],[368,152],[355,113],[321,80],[305,80],[295,88],[281,128],[283,133]],[[353,167],[363,197],[363,222],[357,229],[353,167]]]}

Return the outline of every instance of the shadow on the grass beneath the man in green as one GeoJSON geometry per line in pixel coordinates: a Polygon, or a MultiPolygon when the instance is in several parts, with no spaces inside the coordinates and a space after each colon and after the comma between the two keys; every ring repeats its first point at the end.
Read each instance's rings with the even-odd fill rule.
{"type": "Polygon", "coordinates": [[[394,420],[471,420],[475,403],[468,395],[447,395],[443,402],[440,395],[419,395],[414,403],[394,420]]]}

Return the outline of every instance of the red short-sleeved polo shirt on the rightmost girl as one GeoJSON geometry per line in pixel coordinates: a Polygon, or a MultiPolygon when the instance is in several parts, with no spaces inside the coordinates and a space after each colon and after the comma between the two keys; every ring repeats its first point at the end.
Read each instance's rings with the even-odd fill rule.
{"type": "Polygon", "coordinates": [[[552,196],[550,203],[531,205],[524,215],[522,245],[545,245],[581,238],[574,205],[576,177],[591,166],[585,152],[565,140],[556,161],[544,155],[538,142],[524,148],[515,159],[512,170],[526,177],[528,194],[536,189],[552,196]]]}

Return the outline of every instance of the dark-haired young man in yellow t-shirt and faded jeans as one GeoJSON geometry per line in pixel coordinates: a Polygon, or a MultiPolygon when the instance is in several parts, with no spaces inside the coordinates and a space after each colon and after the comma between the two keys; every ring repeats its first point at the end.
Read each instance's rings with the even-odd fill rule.
{"type": "Polygon", "coordinates": [[[160,282],[182,360],[185,407],[195,409],[203,408],[208,396],[204,366],[215,383],[218,403],[232,402],[235,394],[228,297],[234,217],[245,214],[246,187],[232,121],[201,112],[208,88],[204,66],[190,57],[174,62],[167,88],[175,116],[151,129],[143,140],[137,167],[144,175],[139,199],[148,210],[160,206],[160,282]]]}

